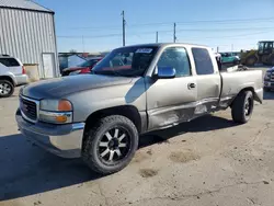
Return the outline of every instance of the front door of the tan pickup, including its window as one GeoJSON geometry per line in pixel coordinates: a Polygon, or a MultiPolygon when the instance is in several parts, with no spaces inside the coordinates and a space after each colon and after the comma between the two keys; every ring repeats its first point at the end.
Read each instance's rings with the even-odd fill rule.
{"type": "Polygon", "coordinates": [[[148,129],[164,128],[193,117],[197,96],[196,81],[192,76],[184,47],[163,50],[157,67],[172,67],[174,79],[147,79],[148,129]]]}

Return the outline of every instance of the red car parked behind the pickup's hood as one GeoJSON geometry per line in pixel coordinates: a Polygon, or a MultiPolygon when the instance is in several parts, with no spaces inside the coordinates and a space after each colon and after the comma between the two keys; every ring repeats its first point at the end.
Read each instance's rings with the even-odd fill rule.
{"type": "Polygon", "coordinates": [[[90,73],[95,64],[98,64],[103,57],[93,57],[89,60],[78,65],[77,67],[66,68],[61,71],[61,76],[70,76],[78,73],[90,73]]]}

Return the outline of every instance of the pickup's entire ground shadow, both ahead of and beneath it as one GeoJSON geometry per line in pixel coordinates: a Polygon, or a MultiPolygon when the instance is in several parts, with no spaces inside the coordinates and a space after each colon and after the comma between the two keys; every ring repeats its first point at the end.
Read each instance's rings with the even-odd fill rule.
{"type": "MultiPolygon", "coordinates": [[[[231,121],[204,116],[140,138],[140,148],[162,142],[184,133],[199,133],[236,126],[231,121]],[[160,136],[160,138],[159,138],[160,136]]],[[[80,159],[69,160],[48,153],[22,135],[0,137],[0,201],[54,191],[101,179],[80,159]]],[[[130,167],[130,165],[129,165],[130,167]]]]}

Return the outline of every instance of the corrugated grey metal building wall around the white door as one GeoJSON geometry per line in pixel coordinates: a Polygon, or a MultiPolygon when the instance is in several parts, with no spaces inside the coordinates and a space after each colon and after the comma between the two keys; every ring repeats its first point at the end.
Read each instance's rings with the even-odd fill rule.
{"type": "Polygon", "coordinates": [[[54,53],[54,75],[58,76],[54,14],[0,8],[0,54],[18,57],[23,64],[38,64],[43,78],[43,53],[54,53]]]}

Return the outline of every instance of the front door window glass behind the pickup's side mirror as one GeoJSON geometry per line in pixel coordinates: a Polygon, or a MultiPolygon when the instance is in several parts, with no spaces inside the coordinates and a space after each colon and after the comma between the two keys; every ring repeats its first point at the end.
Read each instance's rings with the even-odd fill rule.
{"type": "Polygon", "coordinates": [[[176,71],[176,77],[191,76],[189,56],[185,48],[182,47],[167,48],[162,53],[157,66],[174,68],[176,71]]]}

